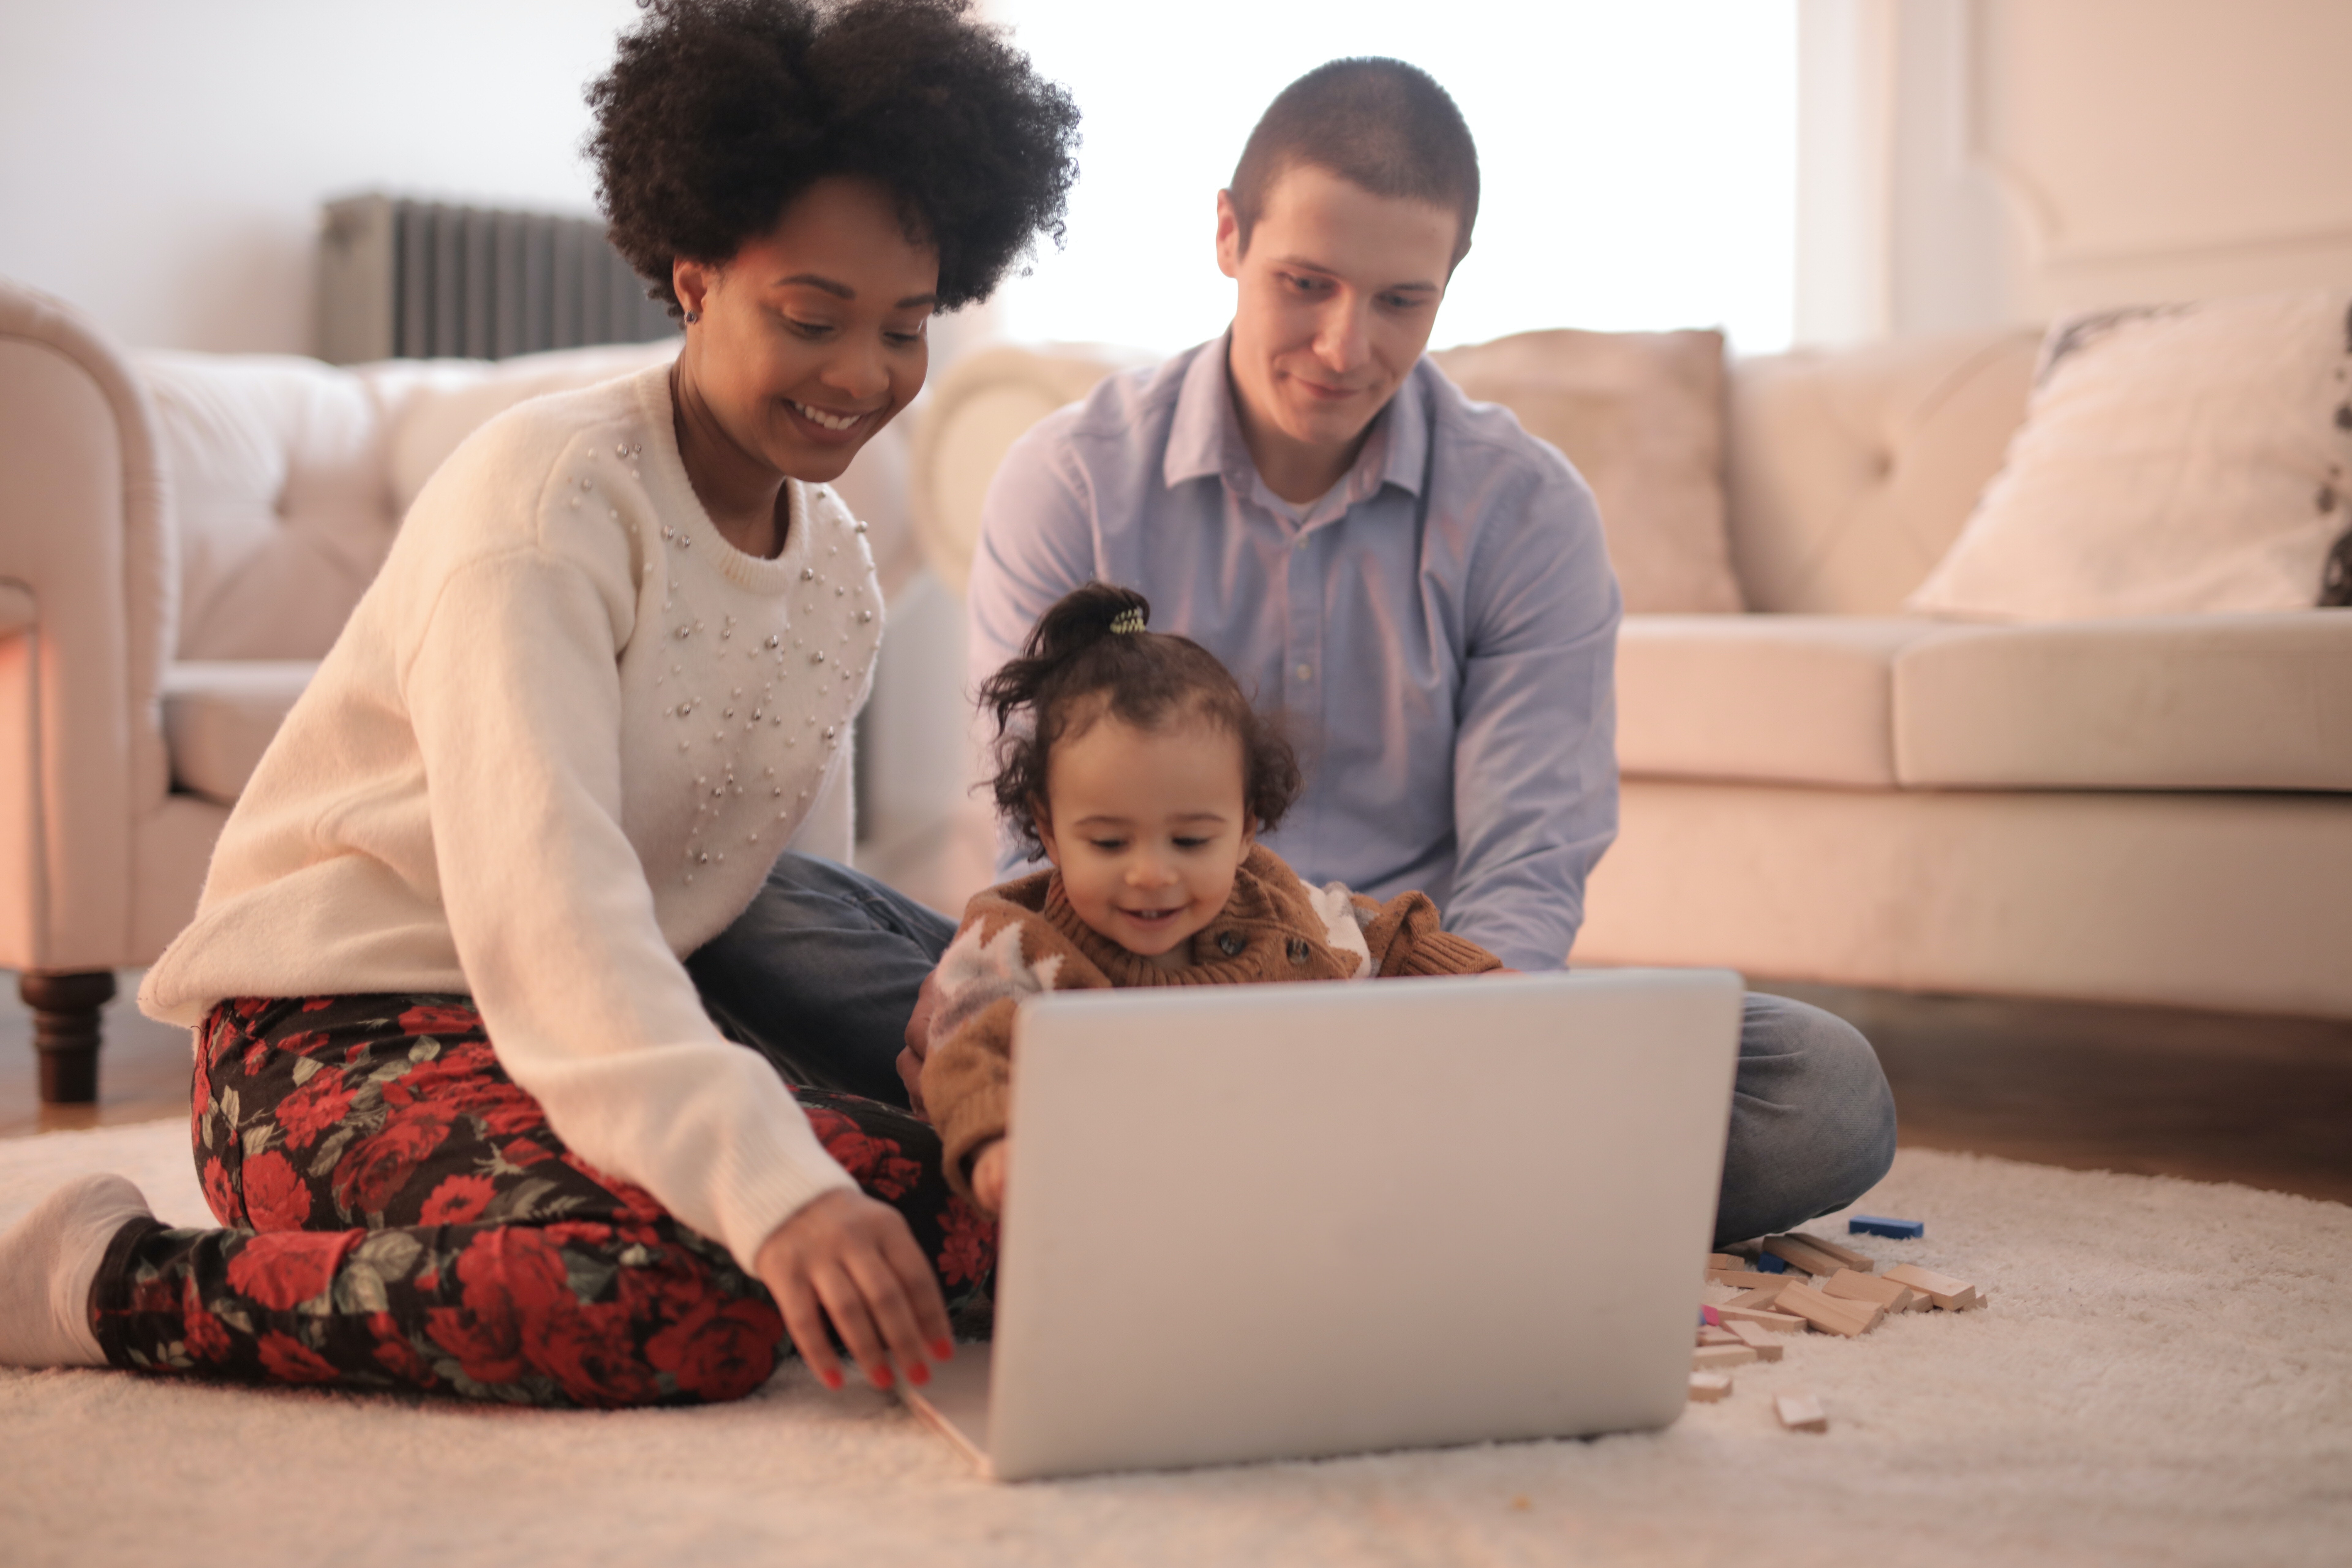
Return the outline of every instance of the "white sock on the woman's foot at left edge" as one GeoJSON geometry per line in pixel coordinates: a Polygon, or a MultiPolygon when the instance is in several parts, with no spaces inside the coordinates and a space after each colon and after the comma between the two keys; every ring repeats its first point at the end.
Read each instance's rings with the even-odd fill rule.
{"type": "Polygon", "coordinates": [[[80,1175],[0,1237],[0,1366],[106,1366],[89,1328],[89,1286],[106,1244],[153,1220],[120,1175],[80,1175]]]}

